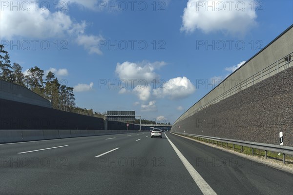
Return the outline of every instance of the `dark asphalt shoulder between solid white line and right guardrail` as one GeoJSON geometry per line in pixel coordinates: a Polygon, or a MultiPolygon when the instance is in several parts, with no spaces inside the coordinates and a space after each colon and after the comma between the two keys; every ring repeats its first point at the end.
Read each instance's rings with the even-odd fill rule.
{"type": "Polygon", "coordinates": [[[293,174],[174,134],[168,137],[217,194],[293,194],[293,174]]]}

